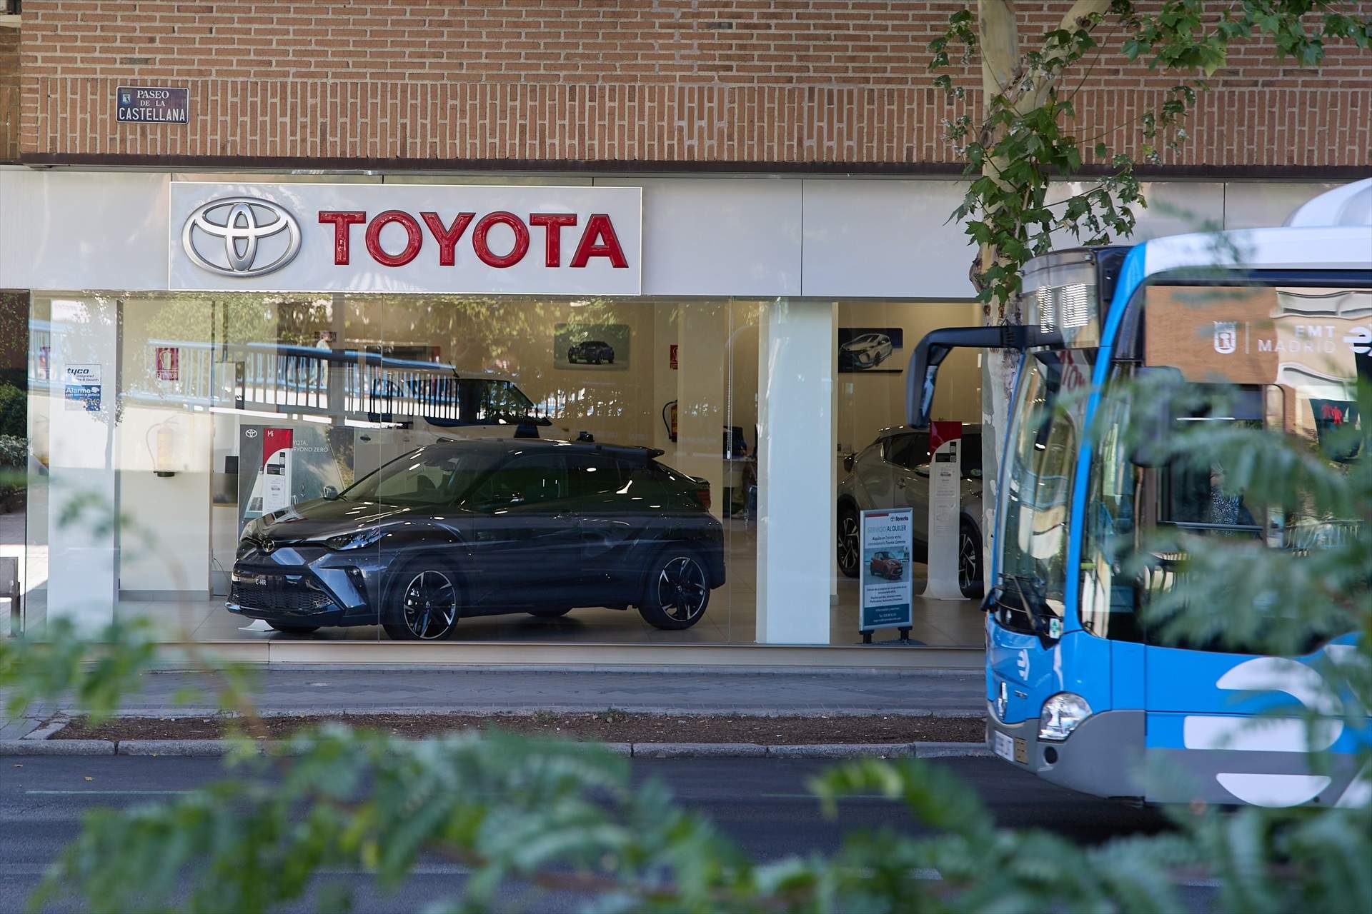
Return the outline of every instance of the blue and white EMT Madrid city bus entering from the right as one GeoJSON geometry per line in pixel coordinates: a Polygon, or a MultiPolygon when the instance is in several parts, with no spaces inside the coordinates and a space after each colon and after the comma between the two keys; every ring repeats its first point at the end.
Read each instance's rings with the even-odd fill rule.
{"type": "Polygon", "coordinates": [[[1154,555],[1140,573],[1118,547],[1173,528],[1309,549],[1369,519],[1281,517],[1225,495],[1222,467],[1148,459],[1124,444],[1128,397],[1109,393],[1158,371],[1231,392],[1225,415],[1170,415],[1161,434],[1190,419],[1318,443],[1357,423],[1357,381],[1372,380],[1372,180],[1316,197],[1283,227],[1052,252],[1026,264],[1021,295],[1022,326],[934,330],[907,375],[907,421],[925,428],[949,349],[1019,352],[982,604],[989,748],[1106,798],[1368,802],[1372,771],[1356,754],[1372,730],[1345,726],[1318,673],[1356,651],[1354,634],[1313,639],[1298,656],[1163,640],[1140,608],[1184,556],[1154,555]],[[1303,708],[1328,725],[1308,730],[1303,708]],[[1332,763],[1312,766],[1309,748],[1332,763]]]}

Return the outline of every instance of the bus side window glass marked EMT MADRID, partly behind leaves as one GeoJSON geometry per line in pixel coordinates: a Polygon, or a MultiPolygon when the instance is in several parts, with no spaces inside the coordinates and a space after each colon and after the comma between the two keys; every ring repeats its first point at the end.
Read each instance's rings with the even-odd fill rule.
{"type": "MultiPolygon", "coordinates": [[[[1372,377],[1372,356],[1358,352],[1358,334],[1372,330],[1372,291],[1265,285],[1150,285],[1129,304],[1120,363],[1107,389],[1129,384],[1140,367],[1165,367],[1194,392],[1224,393],[1225,408],[1172,417],[1277,429],[1308,441],[1336,466],[1365,455],[1347,434],[1358,426],[1358,377],[1372,377]]],[[[1203,397],[1202,397],[1203,399],[1203,397]]],[[[1126,397],[1106,397],[1083,530],[1081,622],[1102,637],[1158,643],[1139,610],[1170,588],[1185,555],[1151,555],[1152,570],[1124,570],[1122,556],[1147,549],[1151,533],[1174,529],[1242,539],[1269,548],[1305,551],[1356,532],[1356,518],[1283,514],[1225,486],[1225,467],[1172,460],[1142,467],[1126,452],[1126,397]]],[[[1316,637],[1318,633],[1312,633],[1316,637]]],[[[1238,650],[1185,644],[1198,650],[1238,650]]]]}

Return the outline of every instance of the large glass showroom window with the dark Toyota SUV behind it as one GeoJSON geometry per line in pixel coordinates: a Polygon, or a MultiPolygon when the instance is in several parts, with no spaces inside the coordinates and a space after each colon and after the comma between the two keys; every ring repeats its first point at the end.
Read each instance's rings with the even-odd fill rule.
{"type": "Polygon", "coordinates": [[[36,295],[37,604],[178,640],[753,641],[764,307],[36,295]],[[58,529],[78,499],[122,528],[58,529]]]}

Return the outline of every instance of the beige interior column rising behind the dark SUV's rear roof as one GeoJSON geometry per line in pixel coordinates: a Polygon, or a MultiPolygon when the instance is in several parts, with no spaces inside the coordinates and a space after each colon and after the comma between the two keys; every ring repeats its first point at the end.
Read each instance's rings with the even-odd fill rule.
{"type": "Polygon", "coordinates": [[[724,512],[724,382],[729,359],[729,303],[681,306],[676,469],[709,480],[709,510],[724,512]]]}

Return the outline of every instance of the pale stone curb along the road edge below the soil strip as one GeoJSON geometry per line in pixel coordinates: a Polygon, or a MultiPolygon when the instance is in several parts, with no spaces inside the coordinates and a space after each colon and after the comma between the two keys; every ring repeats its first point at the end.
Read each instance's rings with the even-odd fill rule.
{"type": "MultiPolygon", "coordinates": [[[[220,758],[228,740],[0,740],[0,756],[12,755],[137,755],[144,758],[220,758]]],[[[258,744],[261,750],[280,743],[258,744]]],[[[989,756],[984,743],[820,743],[811,745],[760,745],[757,743],[601,743],[613,755],[642,759],[681,758],[980,758],[989,756]]]]}

